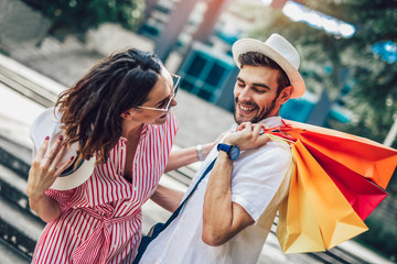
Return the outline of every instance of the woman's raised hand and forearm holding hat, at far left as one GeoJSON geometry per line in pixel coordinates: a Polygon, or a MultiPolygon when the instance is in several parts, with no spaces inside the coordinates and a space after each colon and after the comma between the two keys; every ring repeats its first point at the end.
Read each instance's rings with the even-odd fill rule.
{"type": "Polygon", "coordinates": [[[29,170],[26,185],[29,206],[44,222],[53,221],[61,215],[61,208],[53,199],[45,195],[45,191],[73,161],[72,157],[68,162],[58,164],[66,150],[66,144],[62,144],[62,141],[63,138],[60,136],[49,153],[45,154],[49,147],[47,136],[39,148],[32,167],[29,170]]]}

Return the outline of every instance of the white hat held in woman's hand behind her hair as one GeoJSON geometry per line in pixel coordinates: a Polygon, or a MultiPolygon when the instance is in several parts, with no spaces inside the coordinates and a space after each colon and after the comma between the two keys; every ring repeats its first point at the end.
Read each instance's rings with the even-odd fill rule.
{"type": "MultiPolygon", "coordinates": [[[[62,129],[60,123],[60,114],[54,114],[54,108],[49,108],[42,112],[33,122],[30,131],[31,139],[34,144],[33,158],[46,136],[50,136],[49,150],[60,135],[64,135],[64,132],[65,131],[62,129]]],[[[77,151],[77,142],[67,147],[66,153],[60,162],[67,162],[71,156],[74,156],[73,164],[56,178],[51,188],[57,190],[73,189],[84,184],[92,176],[95,167],[95,156],[89,158],[89,161],[82,160],[75,167],[77,151]]]]}

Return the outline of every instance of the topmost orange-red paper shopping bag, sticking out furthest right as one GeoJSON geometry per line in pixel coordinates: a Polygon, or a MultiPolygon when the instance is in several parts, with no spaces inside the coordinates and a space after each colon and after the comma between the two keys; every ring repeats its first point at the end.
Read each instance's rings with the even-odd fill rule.
{"type": "Polygon", "coordinates": [[[285,120],[286,133],[386,189],[397,165],[397,151],[365,138],[285,120]]]}

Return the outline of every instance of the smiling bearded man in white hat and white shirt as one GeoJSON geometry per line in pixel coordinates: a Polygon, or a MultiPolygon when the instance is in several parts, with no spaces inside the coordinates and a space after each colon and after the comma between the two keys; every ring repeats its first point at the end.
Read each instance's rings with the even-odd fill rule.
{"type": "Polygon", "coordinates": [[[232,50],[240,68],[234,88],[236,124],[208,154],[186,194],[216,158],[212,172],[140,263],[256,263],[288,195],[289,146],[260,131],[280,125],[280,107],[303,95],[299,54],[278,34],[265,43],[243,38],[232,50]]]}

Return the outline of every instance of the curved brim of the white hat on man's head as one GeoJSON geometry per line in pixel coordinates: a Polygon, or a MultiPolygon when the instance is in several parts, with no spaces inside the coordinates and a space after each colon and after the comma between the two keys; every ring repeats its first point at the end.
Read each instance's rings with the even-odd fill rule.
{"type": "Polygon", "coordinates": [[[283,56],[258,40],[243,38],[233,44],[233,59],[235,61],[238,68],[240,68],[240,63],[238,62],[239,55],[248,52],[261,53],[275,61],[283,69],[291,82],[291,86],[293,87],[290,98],[298,98],[303,96],[305,86],[299,72],[283,56]]]}

